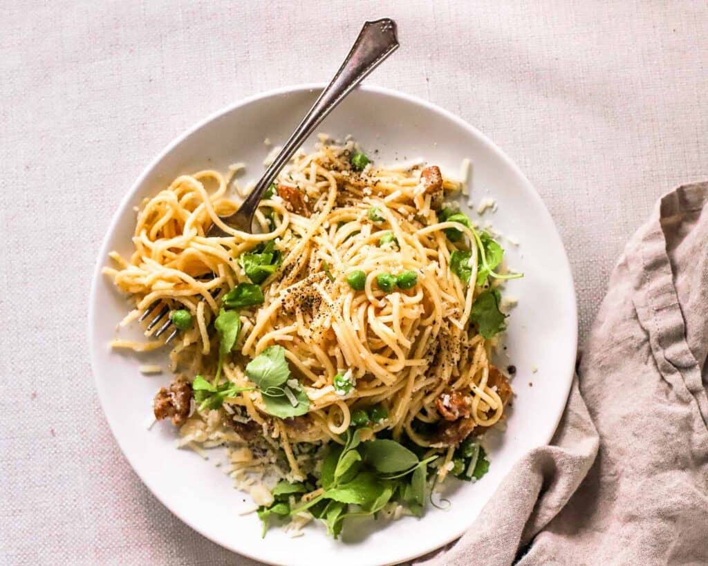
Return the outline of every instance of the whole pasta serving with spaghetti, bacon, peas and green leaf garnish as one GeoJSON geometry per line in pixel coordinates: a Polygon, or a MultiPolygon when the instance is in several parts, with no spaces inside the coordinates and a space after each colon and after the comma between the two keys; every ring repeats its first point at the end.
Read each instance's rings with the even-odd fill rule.
{"type": "MultiPolygon", "coordinates": [[[[333,504],[415,512],[421,475],[423,486],[481,477],[479,437],[511,395],[490,355],[506,324],[499,282],[515,275],[493,236],[447,202],[462,183],[323,141],[280,173],[251,234],[219,218],[244,197],[229,183],[238,168],[181,175],[144,200],[134,252],[112,253],[104,270],[133,305],[122,325],[140,319],[149,339],[113,347],[171,346],[176,379],[155,417],[197,450],[226,444],[266,522],[326,520],[333,504]],[[227,236],[207,236],[212,224],[227,236]],[[343,475],[327,476],[327,458],[343,475]],[[407,467],[381,463],[396,458],[407,467]],[[263,488],[268,470],[281,487],[263,488]],[[377,504],[323,496],[367,473],[398,483],[377,504]]],[[[335,536],[337,520],[326,521],[335,536]]]]}

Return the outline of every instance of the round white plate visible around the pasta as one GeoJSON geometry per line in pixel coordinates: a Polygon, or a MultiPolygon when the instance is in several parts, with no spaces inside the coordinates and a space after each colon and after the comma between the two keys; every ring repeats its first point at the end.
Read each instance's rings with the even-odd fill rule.
{"type": "MultiPolygon", "coordinates": [[[[462,159],[470,158],[472,199],[478,204],[482,198],[493,197],[498,207],[497,212],[486,212],[482,223],[490,219],[495,229],[521,242],[518,248],[505,245],[508,262],[525,277],[507,286],[506,293],[517,296],[519,302],[509,319],[507,350],[499,361],[517,368],[513,411],[506,432],[489,435],[489,473],[477,483],[453,485],[446,510],[428,507],[422,519],[351,521],[340,541],[326,536],[319,524],[309,526],[299,538],[290,538],[281,529],[270,529],[261,538],[256,515],[239,515],[248,496],[233,488],[223,468],[193,451],[176,449],[171,424],[161,422],[147,430],[154,393],[170,376],[143,376],[138,366],[155,361],[165,365],[166,352],[135,355],[112,352],[108,347],[127,304],[101,275],[101,267],[108,265],[110,250],[129,255],[135,229],[133,207],[177,175],[201,168],[225,171],[230,163],[245,161],[249,166],[246,180],[256,180],[267,153],[263,140],[285,141],[320,90],[321,86],[284,88],[225,108],[173,141],[140,175],[115,214],[98,256],[89,307],[91,364],[103,410],[123,453],[154,495],[193,529],[263,562],[389,564],[422,555],[460,536],[514,463],[551,439],[571,385],[577,316],[561,238],[532,185],[483,134],[428,102],[373,87],[353,92],[319,128],[339,139],[352,134],[379,162],[423,156],[456,174],[462,159]]],[[[140,334],[130,328],[120,335],[140,334]]]]}

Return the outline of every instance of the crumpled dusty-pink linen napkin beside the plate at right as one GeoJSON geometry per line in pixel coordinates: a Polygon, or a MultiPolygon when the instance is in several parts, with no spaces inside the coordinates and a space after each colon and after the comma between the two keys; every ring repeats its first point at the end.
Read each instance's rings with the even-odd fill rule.
{"type": "Polygon", "coordinates": [[[615,267],[552,444],[426,565],[708,564],[708,183],[615,267]]]}

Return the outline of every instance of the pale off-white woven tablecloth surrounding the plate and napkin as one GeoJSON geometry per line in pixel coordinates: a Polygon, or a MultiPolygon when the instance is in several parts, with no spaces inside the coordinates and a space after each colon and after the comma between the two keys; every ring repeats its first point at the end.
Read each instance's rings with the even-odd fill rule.
{"type": "Polygon", "coordinates": [[[5,4],[0,562],[251,563],[184,526],[122,458],[86,352],[89,275],[168,141],[234,99],[326,81],[380,16],[402,47],[370,82],[455,112],[525,171],[566,241],[581,335],[656,197],[706,176],[702,2],[5,4]]]}

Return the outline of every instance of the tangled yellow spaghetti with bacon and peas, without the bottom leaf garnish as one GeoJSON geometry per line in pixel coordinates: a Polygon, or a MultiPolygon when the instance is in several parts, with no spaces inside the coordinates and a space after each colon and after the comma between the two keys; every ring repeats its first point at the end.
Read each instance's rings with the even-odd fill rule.
{"type": "MultiPolygon", "coordinates": [[[[455,446],[502,419],[511,394],[490,364],[495,338],[474,318],[480,297],[496,293],[504,277],[493,271],[501,260],[492,262],[491,238],[464,214],[441,212],[462,183],[423,163],[361,168],[356,149],[321,143],[296,154],[261,202],[253,234],[219,218],[239,207],[221,173],[181,175],[142,202],[134,252],[112,253],[116,267],[105,273],[130,296],[126,323],[156,302],[188,312],[193,323],[171,351],[178,382],[219,381],[223,370],[232,387],[222,405],[192,407],[179,419],[168,391],[166,414],[186,430],[212,419],[234,445],[255,431],[285,455],[290,477],[303,478],[297,446],[343,444],[364,412],[369,437],[385,433],[438,451],[445,475],[455,446]],[[212,224],[228,236],[207,236],[212,224]],[[240,331],[224,357],[215,320],[228,308],[224,297],[244,284],[258,284],[262,301],[239,308],[240,331]],[[297,393],[305,395],[307,410],[294,417],[273,414],[269,391],[249,378],[249,362],[272,347],[292,372],[278,391],[295,408],[303,402],[297,393]],[[381,418],[371,417],[374,408],[381,418]]],[[[162,345],[153,333],[113,346],[151,350],[162,345]]]]}

